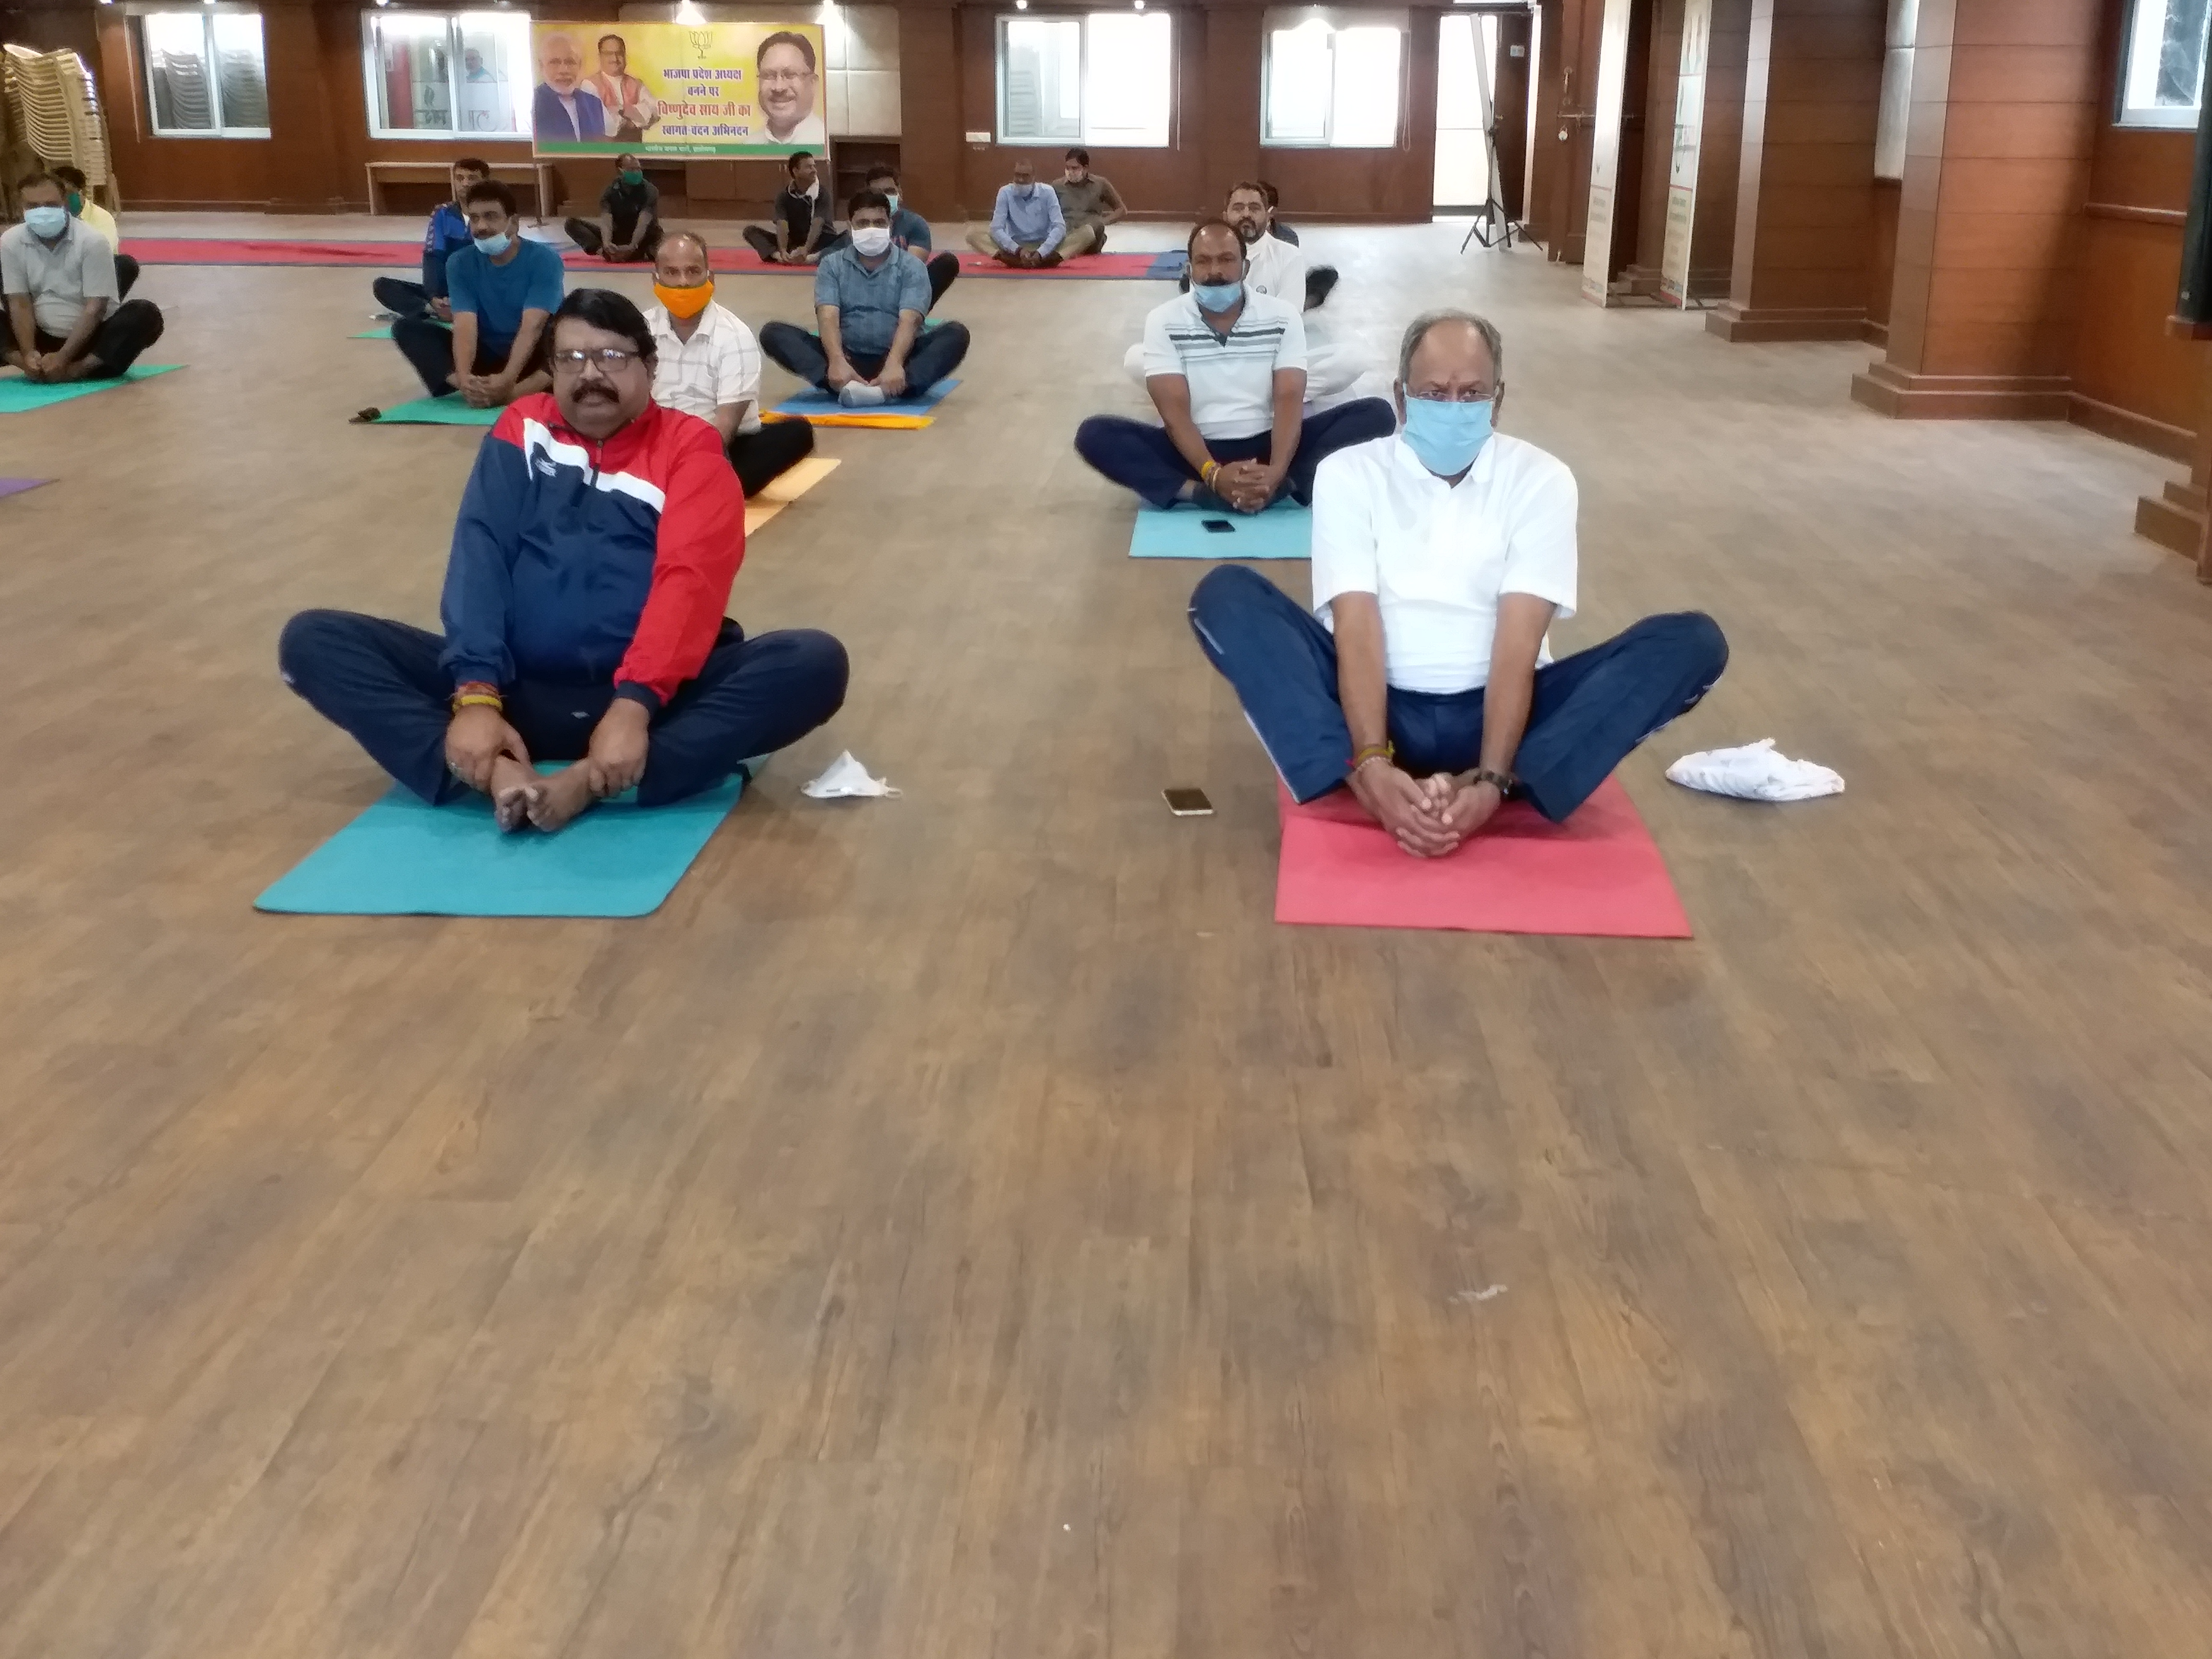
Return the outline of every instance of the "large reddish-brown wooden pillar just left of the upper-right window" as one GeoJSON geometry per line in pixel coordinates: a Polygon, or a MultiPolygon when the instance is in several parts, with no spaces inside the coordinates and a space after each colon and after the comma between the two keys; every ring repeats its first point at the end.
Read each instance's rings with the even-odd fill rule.
{"type": "Polygon", "coordinates": [[[2064,420],[2075,226],[2101,117],[2101,0],[1922,0],[1887,416],[2064,420]]]}

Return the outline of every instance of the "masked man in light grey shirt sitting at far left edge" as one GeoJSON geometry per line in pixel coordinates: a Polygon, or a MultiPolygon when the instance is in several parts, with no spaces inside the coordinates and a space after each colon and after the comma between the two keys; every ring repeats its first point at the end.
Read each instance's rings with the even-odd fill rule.
{"type": "Polygon", "coordinates": [[[69,215],[60,179],[31,173],[18,190],[22,223],[0,232],[0,363],[44,385],[122,376],[161,338],[161,312],[119,299],[108,239],[69,215]]]}

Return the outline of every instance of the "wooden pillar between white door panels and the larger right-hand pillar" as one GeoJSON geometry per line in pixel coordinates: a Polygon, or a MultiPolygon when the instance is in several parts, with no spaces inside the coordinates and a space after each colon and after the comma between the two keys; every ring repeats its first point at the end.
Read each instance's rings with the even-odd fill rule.
{"type": "Polygon", "coordinates": [[[1887,22],[1887,0],[1752,0],[1723,341],[1858,338],[1887,22]]]}

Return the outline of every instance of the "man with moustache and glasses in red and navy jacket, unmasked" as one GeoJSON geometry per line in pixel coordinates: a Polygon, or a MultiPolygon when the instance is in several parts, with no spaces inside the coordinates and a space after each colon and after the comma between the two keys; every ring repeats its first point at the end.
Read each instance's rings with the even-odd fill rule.
{"type": "Polygon", "coordinates": [[[586,288],[553,319],[553,392],[500,416],[445,568],[445,637],[347,611],[285,624],[285,684],[431,805],[560,830],[637,787],[712,790],[845,701],[825,633],[723,619],[745,502],[714,429],[653,403],[653,334],[586,288]],[[571,761],[540,776],[531,761],[571,761]]]}

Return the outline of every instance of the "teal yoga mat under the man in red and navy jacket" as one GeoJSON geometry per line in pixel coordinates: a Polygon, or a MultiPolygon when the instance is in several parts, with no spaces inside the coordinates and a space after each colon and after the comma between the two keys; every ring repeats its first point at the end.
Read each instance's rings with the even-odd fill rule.
{"type": "Polygon", "coordinates": [[[557,834],[500,834],[473,790],[445,807],[400,785],[310,852],[254,909],[294,916],[648,916],[743,792],[743,774],[668,807],[628,794],[557,834]]]}

